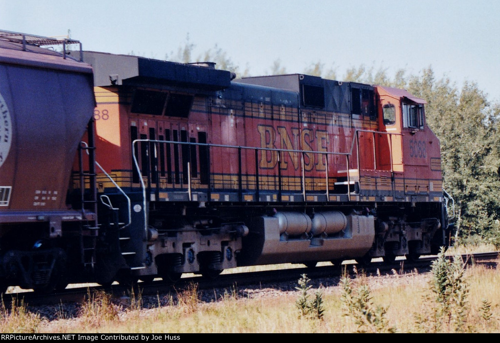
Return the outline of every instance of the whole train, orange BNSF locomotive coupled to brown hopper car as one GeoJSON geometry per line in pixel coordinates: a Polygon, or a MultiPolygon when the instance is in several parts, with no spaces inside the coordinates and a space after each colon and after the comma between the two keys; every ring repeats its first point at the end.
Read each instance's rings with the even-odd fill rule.
{"type": "Polygon", "coordinates": [[[447,245],[439,141],[405,90],[0,37],[3,288],[447,245]]]}

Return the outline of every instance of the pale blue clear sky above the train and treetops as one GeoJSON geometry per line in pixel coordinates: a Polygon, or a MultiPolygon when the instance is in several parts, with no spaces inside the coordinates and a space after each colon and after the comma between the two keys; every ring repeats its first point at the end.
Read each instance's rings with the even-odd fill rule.
{"type": "Polygon", "coordinates": [[[168,59],[215,45],[239,70],[288,73],[320,62],[337,79],[361,65],[418,74],[432,67],[500,102],[496,0],[0,0],[0,29],[81,41],[84,50],[168,59]]]}

